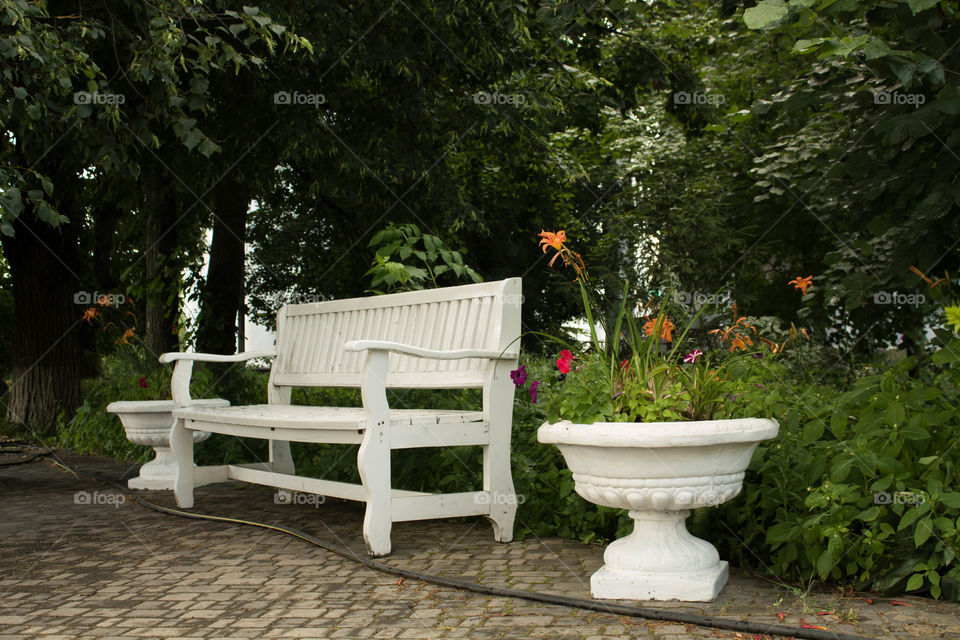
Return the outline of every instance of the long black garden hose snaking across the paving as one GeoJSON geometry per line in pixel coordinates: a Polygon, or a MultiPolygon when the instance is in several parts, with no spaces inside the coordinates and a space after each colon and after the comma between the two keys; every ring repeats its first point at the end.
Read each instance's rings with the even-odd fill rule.
{"type": "MultiPolygon", "coordinates": [[[[7,443],[0,443],[0,446],[7,443]]],[[[18,443],[19,444],[19,443],[18,443]]],[[[147,509],[152,509],[160,513],[165,513],[168,515],[180,516],[182,518],[192,518],[194,520],[213,520],[215,522],[231,522],[234,524],[243,524],[252,527],[260,527],[262,529],[270,529],[273,531],[280,531],[288,535],[300,538],[310,544],[325,549],[330,553],[334,553],[338,556],[361,564],[365,567],[373,569],[375,571],[380,571],[383,573],[393,574],[404,579],[409,580],[418,580],[423,581],[429,584],[434,584],[441,587],[448,587],[451,589],[464,589],[466,591],[471,591],[473,593],[479,593],[483,595],[490,596],[499,596],[506,598],[520,598],[523,600],[529,600],[531,602],[541,602],[544,604],[553,604],[560,605],[563,607],[572,607],[576,609],[585,609],[587,611],[597,611],[600,613],[610,613],[618,616],[628,616],[631,618],[645,618],[647,620],[662,620],[666,622],[676,622],[680,624],[692,624],[699,627],[710,627],[714,629],[725,629],[728,631],[738,631],[740,633],[750,633],[750,634],[762,634],[762,635],[775,635],[782,636],[786,638],[802,638],[803,640],[876,640],[868,638],[865,636],[854,636],[848,633],[837,633],[834,631],[824,630],[824,629],[805,629],[805,628],[795,628],[787,627],[784,625],[769,625],[762,624],[758,622],[744,622],[741,620],[732,620],[729,618],[718,618],[715,616],[704,616],[690,613],[682,613],[679,611],[669,611],[665,609],[650,609],[647,607],[633,607],[629,605],[613,604],[609,602],[603,602],[599,600],[586,600],[582,598],[570,598],[567,596],[559,596],[549,593],[540,593],[538,591],[528,591],[521,589],[506,589],[503,587],[493,587],[489,585],[478,584],[476,582],[468,582],[466,580],[457,580],[456,578],[447,578],[444,576],[435,576],[427,573],[421,573],[419,571],[411,571],[409,569],[401,569],[399,567],[394,567],[376,560],[371,560],[368,557],[360,556],[350,551],[349,549],[343,549],[334,545],[331,545],[319,538],[310,535],[304,531],[299,531],[298,529],[293,529],[291,527],[284,527],[280,525],[267,524],[265,522],[257,522],[255,520],[241,520],[239,518],[227,518],[224,516],[213,516],[207,515],[204,513],[193,513],[189,511],[182,511],[180,509],[173,509],[171,507],[164,507],[161,505],[153,504],[147,500],[144,500],[138,496],[133,491],[130,491],[126,486],[109,480],[107,478],[102,478],[96,474],[75,469],[61,460],[56,453],[52,450],[46,450],[41,453],[38,453],[34,458],[41,456],[50,456],[53,460],[64,469],[74,473],[78,476],[84,476],[100,482],[102,484],[114,487],[119,489],[126,495],[130,496],[137,504],[146,507],[147,509]]]]}

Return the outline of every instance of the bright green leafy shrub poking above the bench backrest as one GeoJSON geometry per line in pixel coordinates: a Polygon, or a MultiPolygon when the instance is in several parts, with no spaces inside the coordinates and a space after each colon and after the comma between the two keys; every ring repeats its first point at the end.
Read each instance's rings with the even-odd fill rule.
{"type": "Polygon", "coordinates": [[[377,247],[377,251],[364,275],[370,276],[370,289],[375,293],[436,289],[462,280],[483,281],[463,263],[459,251],[449,249],[437,236],[422,233],[415,224],[390,223],[373,235],[369,246],[377,247]],[[444,274],[448,274],[446,278],[444,274]]]}

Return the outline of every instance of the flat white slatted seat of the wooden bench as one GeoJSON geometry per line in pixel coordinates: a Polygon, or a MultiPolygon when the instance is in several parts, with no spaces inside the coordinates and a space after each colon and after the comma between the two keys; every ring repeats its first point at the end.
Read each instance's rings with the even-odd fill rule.
{"type": "MultiPolygon", "coordinates": [[[[311,407],[306,405],[255,404],[219,407],[220,410],[184,407],[174,417],[198,424],[228,424],[286,429],[350,429],[366,426],[366,412],[360,407],[311,407]]],[[[482,422],[482,411],[444,409],[391,409],[390,423],[396,426],[461,424],[482,422]]]]}

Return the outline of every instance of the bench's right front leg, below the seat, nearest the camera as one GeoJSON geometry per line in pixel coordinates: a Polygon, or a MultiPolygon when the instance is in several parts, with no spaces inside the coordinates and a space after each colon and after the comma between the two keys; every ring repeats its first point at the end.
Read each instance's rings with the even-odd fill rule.
{"type": "Polygon", "coordinates": [[[360,480],[367,492],[363,517],[363,541],[371,556],[390,553],[393,517],[390,504],[390,445],[383,426],[368,428],[357,453],[360,480]]]}

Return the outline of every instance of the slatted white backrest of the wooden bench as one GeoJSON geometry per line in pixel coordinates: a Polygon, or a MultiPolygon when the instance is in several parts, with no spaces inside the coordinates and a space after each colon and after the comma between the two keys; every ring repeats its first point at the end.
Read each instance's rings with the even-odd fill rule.
{"type": "MultiPolygon", "coordinates": [[[[426,349],[505,351],[518,357],[520,278],[383,296],[284,306],[277,316],[276,387],[359,387],[365,354],[349,340],[390,340],[426,349]]],[[[490,360],[392,354],[390,387],[479,388],[490,360]]]]}

